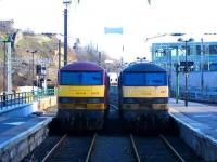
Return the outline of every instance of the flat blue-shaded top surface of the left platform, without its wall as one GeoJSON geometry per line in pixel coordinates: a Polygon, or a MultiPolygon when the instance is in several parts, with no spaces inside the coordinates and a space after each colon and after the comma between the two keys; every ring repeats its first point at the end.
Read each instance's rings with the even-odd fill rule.
{"type": "Polygon", "coordinates": [[[0,149],[14,140],[25,138],[40,129],[41,125],[48,124],[51,120],[51,117],[0,117],[0,149]]]}

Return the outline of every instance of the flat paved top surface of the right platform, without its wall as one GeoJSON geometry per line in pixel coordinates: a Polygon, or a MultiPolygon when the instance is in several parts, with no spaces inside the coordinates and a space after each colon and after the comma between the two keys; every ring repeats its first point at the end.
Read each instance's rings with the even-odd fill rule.
{"type": "Polygon", "coordinates": [[[175,99],[169,99],[169,112],[217,144],[217,106],[188,102],[186,107],[183,100],[176,104],[175,99]]]}

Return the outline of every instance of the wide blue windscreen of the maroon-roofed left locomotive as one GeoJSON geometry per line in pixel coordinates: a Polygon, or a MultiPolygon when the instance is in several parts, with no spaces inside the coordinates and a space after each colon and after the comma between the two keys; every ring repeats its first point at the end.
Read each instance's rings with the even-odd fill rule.
{"type": "Polygon", "coordinates": [[[101,71],[63,71],[60,83],[62,85],[102,85],[101,71]]]}

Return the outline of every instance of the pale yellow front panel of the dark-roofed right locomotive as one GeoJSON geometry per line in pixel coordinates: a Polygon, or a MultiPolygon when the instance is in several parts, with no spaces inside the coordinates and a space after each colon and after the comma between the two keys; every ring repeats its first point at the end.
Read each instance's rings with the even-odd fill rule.
{"type": "Polygon", "coordinates": [[[124,97],[168,97],[168,86],[123,86],[124,97]]]}

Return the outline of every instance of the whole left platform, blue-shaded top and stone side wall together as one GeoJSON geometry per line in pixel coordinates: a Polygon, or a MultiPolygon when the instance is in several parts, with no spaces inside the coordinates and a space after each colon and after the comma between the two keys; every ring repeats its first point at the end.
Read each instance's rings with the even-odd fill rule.
{"type": "Polygon", "coordinates": [[[0,117],[0,161],[18,162],[48,135],[52,117],[0,117]]]}

